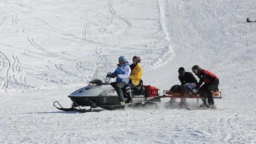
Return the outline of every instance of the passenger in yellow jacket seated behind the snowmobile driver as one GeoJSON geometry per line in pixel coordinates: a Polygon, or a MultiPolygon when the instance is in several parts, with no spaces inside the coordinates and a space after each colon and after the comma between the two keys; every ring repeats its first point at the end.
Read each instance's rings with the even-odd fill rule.
{"type": "Polygon", "coordinates": [[[140,77],[142,75],[142,68],[140,66],[141,59],[138,56],[134,56],[132,58],[132,64],[130,65],[131,74],[129,76],[129,83],[126,85],[126,92],[128,95],[127,103],[132,102],[132,94],[131,89],[140,84],[140,77]]]}

